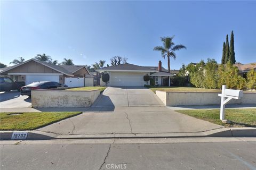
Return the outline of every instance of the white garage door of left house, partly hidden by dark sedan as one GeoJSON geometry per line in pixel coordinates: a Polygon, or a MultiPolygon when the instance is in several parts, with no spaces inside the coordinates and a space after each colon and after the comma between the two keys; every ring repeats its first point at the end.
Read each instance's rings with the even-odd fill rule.
{"type": "Polygon", "coordinates": [[[59,82],[59,75],[26,75],[26,85],[36,81],[59,82]]]}

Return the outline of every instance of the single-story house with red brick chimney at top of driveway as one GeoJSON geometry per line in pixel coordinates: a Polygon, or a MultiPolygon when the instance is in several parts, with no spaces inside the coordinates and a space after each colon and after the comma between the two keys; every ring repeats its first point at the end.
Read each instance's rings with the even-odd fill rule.
{"type": "Polygon", "coordinates": [[[144,86],[147,84],[143,80],[144,75],[150,75],[159,86],[168,86],[172,73],[162,67],[159,61],[158,66],[139,66],[134,64],[120,64],[115,66],[103,67],[97,72],[107,72],[109,74],[108,86],[144,86]]]}

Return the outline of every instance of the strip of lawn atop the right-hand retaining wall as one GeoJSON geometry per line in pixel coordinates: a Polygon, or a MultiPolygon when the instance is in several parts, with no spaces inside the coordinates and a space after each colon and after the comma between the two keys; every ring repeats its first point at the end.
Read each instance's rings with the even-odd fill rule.
{"type": "Polygon", "coordinates": [[[156,93],[156,90],[159,91],[166,91],[166,92],[221,92],[221,90],[218,89],[202,89],[202,88],[196,88],[196,87],[150,87],[150,90],[152,90],[154,93],[156,93]]]}

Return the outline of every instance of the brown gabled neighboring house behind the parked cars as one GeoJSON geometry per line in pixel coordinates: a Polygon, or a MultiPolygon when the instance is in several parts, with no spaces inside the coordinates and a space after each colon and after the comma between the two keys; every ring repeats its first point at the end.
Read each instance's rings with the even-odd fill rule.
{"type": "Polygon", "coordinates": [[[21,64],[2,68],[0,74],[15,81],[24,81],[26,84],[44,80],[64,84],[65,78],[84,78],[90,75],[84,65],[54,65],[34,58],[21,64]]]}

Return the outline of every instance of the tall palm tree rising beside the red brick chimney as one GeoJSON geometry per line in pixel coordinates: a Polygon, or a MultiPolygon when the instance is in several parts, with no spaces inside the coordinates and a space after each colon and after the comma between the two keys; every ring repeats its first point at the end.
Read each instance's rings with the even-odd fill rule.
{"type": "Polygon", "coordinates": [[[161,41],[163,42],[163,46],[156,46],[154,50],[161,51],[162,57],[165,58],[167,56],[168,59],[168,71],[170,72],[170,57],[176,58],[176,54],[174,53],[177,50],[180,50],[182,48],[185,48],[182,44],[175,45],[172,41],[172,37],[161,37],[161,41]]]}

